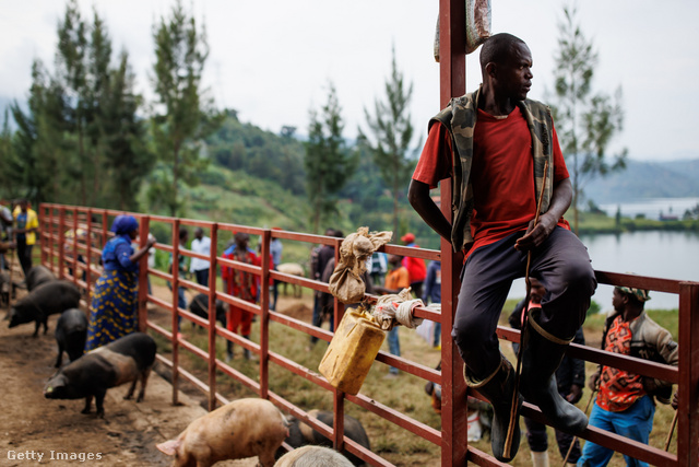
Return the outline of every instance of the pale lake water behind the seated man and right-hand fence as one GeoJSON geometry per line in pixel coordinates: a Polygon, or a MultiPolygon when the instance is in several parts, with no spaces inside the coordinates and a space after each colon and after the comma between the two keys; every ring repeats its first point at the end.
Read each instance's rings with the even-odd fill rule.
{"type": "MultiPolygon", "coordinates": [[[[699,281],[699,234],[696,232],[630,232],[583,235],[580,238],[588,247],[592,267],[596,270],[699,281]]],[[[592,297],[603,312],[612,310],[612,285],[600,284],[592,297]]],[[[526,288],[521,279],[512,284],[508,297],[523,297],[525,294],[526,288]]],[[[647,308],[670,310],[679,305],[678,295],[652,291],[650,295],[647,308]]]]}

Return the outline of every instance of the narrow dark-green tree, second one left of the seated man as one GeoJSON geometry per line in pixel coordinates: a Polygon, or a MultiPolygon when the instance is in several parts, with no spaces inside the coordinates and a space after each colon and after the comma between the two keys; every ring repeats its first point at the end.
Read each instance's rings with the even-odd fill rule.
{"type": "Polygon", "coordinates": [[[312,232],[319,232],[320,222],[337,213],[337,192],[357,165],[357,156],[348,151],[342,137],[341,110],[332,83],[320,115],[315,109],[310,110],[305,167],[312,232]]]}

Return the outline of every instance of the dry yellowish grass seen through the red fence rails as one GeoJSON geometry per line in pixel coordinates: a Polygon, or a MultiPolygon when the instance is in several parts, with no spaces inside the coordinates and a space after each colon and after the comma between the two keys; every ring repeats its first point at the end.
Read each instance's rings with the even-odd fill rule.
{"type": "MultiPolygon", "coordinates": [[[[165,289],[163,293],[170,293],[165,289]]],[[[168,295],[169,296],[169,295],[168,295]]],[[[513,308],[516,300],[507,302],[503,313],[501,315],[501,323],[505,323],[510,311],[513,308]]],[[[310,313],[312,306],[312,299],[306,294],[300,301],[295,301],[291,297],[285,297],[280,294],[280,303],[277,310],[284,312],[285,307],[291,305],[303,304],[307,307],[306,312],[310,313]]],[[[677,312],[664,312],[664,311],[650,311],[650,316],[662,326],[670,329],[676,337],[677,334],[677,312]]],[[[170,318],[165,313],[155,314],[153,317],[156,322],[169,329],[170,318]]],[[[299,316],[299,318],[303,318],[299,316]]],[[[310,316],[306,316],[305,320],[309,320],[310,316]]],[[[599,345],[600,336],[602,332],[602,326],[604,322],[603,315],[592,315],[588,317],[583,329],[585,337],[589,340],[589,345],[596,342],[599,345]]],[[[327,328],[327,325],[324,326],[327,328]]],[[[186,338],[196,346],[206,350],[208,340],[205,329],[191,328],[190,324],[182,322],[182,332],[186,338]]],[[[259,323],[253,323],[252,326],[252,340],[259,342],[259,323]]],[[[434,367],[440,361],[440,352],[433,349],[427,345],[425,340],[411,329],[401,327],[399,330],[401,352],[402,355],[413,360],[417,363],[426,366],[434,367]]],[[[171,349],[169,342],[165,339],[158,338],[158,349],[164,353],[168,353],[171,349]]],[[[309,337],[304,332],[289,329],[277,323],[270,324],[270,349],[274,352],[281,353],[299,364],[308,367],[310,371],[317,371],[318,365],[325,352],[327,345],[323,341],[318,341],[316,346],[308,350],[309,337]]],[[[240,371],[248,377],[259,381],[259,365],[257,362],[244,360],[241,357],[241,350],[236,348],[236,357],[232,361],[230,365],[240,371]]],[[[388,342],[383,343],[382,350],[388,351],[388,342]]],[[[513,353],[511,346],[508,342],[501,343],[502,352],[512,361],[513,353]]],[[[216,354],[223,359],[225,354],[225,343],[222,339],[216,341],[216,354]]],[[[194,358],[188,351],[180,353],[180,364],[191,373],[196,374],[200,380],[206,381],[206,364],[204,361],[194,358]]],[[[587,374],[590,375],[595,371],[595,365],[592,363],[587,364],[587,374]]],[[[282,369],[275,364],[270,364],[270,390],[279,394],[291,402],[301,407],[305,410],[320,409],[332,410],[332,395],[331,393],[315,386],[305,378],[297,376],[285,369],[282,369]]],[[[422,423],[425,423],[436,430],[441,428],[440,416],[437,415],[430,407],[430,398],[425,394],[424,386],[425,381],[416,376],[402,373],[398,378],[387,380],[384,376],[388,373],[387,365],[383,363],[375,362],[367,375],[362,393],[367,397],[390,406],[391,408],[404,413],[422,423]]],[[[182,381],[182,380],[180,380],[182,381]]],[[[242,384],[233,381],[233,378],[218,374],[216,378],[217,390],[228,399],[237,399],[241,397],[254,397],[254,393],[242,384]]],[[[181,387],[186,387],[187,383],[182,382],[181,387]]],[[[584,410],[590,397],[590,390],[585,388],[582,400],[578,406],[584,410]]],[[[368,412],[352,402],[345,404],[345,412],[352,417],[357,418],[365,427],[369,440],[371,442],[371,448],[375,453],[386,458],[387,460],[398,466],[439,466],[440,465],[440,450],[438,446],[423,440],[419,436],[412,434],[411,432],[403,430],[393,423],[381,419],[368,412]]],[[[650,444],[652,446],[663,448],[674,410],[670,406],[659,405],[655,412],[654,430],[651,433],[650,444]]],[[[523,422],[520,422],[522,429],[524,429],[523,422]]],[[[553,429],[548,428],[549,440],[549,457],[550,465],[561,465],[562,458],[558,453],[558,448],[555,442],[555,435],[553,429]]],[[[529,446],[526,444],[525,436],[522,436],[522,443],[520,445],[519,454],[511,463],[513,466],[529,466],[531,465],[529,446]]],[[[465,433],[464,433],[465,441],[465,433]]],[[[481,451],[490,453],[489,437],[485,436],[478,442],[472,443],[472,445],[481,451]]],[[[676,452],[676,443],[671,444],[671,452],[676,452]]],[[[611,466],[624,466],[625,462],[620,454],[615,454],[611,466]]]]}

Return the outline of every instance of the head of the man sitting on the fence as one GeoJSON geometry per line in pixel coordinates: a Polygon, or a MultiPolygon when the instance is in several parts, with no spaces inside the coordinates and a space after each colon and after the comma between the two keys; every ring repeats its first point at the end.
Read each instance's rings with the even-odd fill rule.
{"type": "Polygon", "coordinates": [[[529,47],[511,34],[496,34],[481,49],[483,83],[495,92],[496,98],[524,101],[532,86],[532,66],[529,47]]]}

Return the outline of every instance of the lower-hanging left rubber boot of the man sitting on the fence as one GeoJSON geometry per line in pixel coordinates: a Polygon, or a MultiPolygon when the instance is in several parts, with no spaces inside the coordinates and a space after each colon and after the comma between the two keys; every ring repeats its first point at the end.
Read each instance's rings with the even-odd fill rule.
{"type": "Polygon", "coordinates": [[[509,457],[505,457],[505,442],[510,422],[512,393],[514,392],[514,369],[505,357],[500,357],[500,365],[490,376],[482,381],[474,381],[469,375],[467,370],[464,370],[464,378],[469,387],[476,389],[483,397],[490,401],[493,406],[493,427],[490,428],[490,447],[493,448],[493,455],[500,462],[509,463],[514,458],[517,450],[520,447],[521,432],[519,411],[522,406],[522,400],[521,397],[518,396],[512,446],[509,457]]]}

